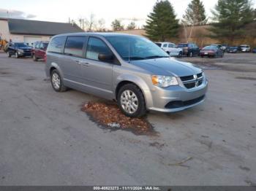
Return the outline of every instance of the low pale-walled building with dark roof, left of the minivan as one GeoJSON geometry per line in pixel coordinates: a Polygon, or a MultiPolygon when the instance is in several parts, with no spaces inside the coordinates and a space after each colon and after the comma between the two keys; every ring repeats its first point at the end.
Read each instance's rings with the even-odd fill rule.
{"type": "Polygon", "coordinates": [[[48,41],[56,34],[83,32],[76,24],[0,18],[0,36],[8,42],[48,41]]]}

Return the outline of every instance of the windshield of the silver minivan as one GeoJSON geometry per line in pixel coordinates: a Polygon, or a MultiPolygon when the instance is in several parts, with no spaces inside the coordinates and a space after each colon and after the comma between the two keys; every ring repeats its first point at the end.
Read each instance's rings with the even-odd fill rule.
{"type": "Polygon", "coordinates": [[[106,39],[125,61],[169,57],[157,44],[140,36],[107,36],[106,39]]]}

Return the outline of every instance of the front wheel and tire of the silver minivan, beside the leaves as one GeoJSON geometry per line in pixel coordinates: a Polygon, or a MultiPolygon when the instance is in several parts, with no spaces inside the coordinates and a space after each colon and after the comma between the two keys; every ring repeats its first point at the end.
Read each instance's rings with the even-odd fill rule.
{"type": "Polygon", "coordinates": [[[127,84],[120,88],[118,91],[118,106],[127,117],[143,117],[146,114],[146,103],[143,93],[134,84],[127,84]]]}

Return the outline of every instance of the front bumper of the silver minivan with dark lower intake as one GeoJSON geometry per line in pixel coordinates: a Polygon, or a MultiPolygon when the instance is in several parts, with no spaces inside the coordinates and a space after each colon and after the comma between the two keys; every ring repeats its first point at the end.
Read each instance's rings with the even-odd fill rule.
{"type": "Polygon", "coordinates": [[[197,106],[205,101],[207,89],[207,79],[203,80],[202,85],[192,89],[178,85],[167,88],[154,87],[154,90],[151,90],[152,102],[147,103],[147,106],[149,105],[148,110],[157,112],[179,112],[197,106]]]}

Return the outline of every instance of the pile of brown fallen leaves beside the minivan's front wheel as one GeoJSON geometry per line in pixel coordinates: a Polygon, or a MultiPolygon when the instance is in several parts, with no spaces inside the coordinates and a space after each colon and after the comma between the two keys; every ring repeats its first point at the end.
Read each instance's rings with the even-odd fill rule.
{"type": "MultiPolygon", "coordinates": [[[[125,116],[115,103],[89,102],[82,108],[99,125],[112,128],[110,124],[118,123],[123,130],[132,130],[135,134],[153,133],[153,126],[145,118],[132,118],[125,116]]],[[[120,128],[115,128],[120,129],[120,128]]]]}

